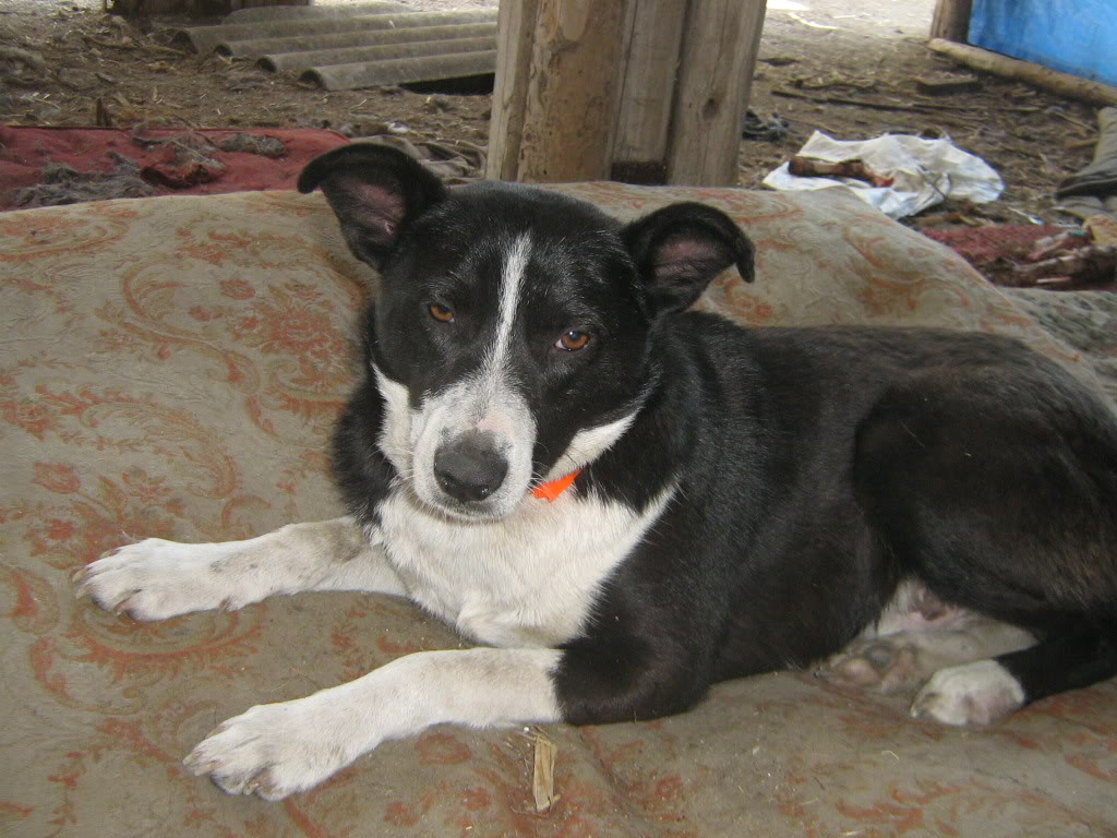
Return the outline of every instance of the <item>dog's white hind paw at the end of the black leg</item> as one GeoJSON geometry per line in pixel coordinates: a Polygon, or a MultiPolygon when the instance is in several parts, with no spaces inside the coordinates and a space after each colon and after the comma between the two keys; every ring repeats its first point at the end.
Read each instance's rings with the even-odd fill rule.
{"type": "Polygon", "coordinates": [[[942,724],[992,724],[1024,704],[1024,689],[995,660],[939,669],[911,704],[911,715],[942,724]]]}

